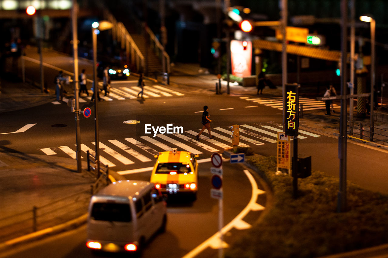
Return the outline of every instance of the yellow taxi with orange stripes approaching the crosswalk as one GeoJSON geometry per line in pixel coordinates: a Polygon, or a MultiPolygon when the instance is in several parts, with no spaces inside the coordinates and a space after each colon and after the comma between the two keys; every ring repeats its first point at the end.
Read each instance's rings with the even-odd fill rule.
{"type": "Polygon", "coordinates": [[[196,200],[198,190],[198,155],[189,151],[159,152],[150,181],[166,194],[191,194],[196,200]]]}

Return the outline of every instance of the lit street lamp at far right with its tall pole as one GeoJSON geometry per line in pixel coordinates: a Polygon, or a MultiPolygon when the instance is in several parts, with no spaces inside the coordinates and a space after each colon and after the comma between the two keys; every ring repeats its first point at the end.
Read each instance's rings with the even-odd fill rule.
{"type": "Polygon", "coordinates": [[[370,22],[371,23],[371,122],[369,129],[369,141],[373,141],[374,134],[374,120],[373,120],[373,104],[374,104],[374,82],[375,82],[375,68],[374,68],[374,60],[375,60],[375,52],[374,52],[374,44],[375,44],[375,31],[376,31],[376,21],[370,17],[362,15],[360,16],[360,21],[370,22]]]}

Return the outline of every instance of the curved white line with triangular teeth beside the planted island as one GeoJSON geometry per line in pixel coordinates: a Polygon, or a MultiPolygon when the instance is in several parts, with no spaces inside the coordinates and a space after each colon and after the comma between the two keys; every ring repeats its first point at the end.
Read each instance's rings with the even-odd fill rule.
{"type": "MultiPolygon", "coordinates": [[[[249,203],[245,208],[232,220],[230,221],[225,227],[221,229],[221,234],[225,235],[227,232],[229,232],[232,228],[238,228],[241,226],[241,221],[243,221],[243,218],[251,211],[257,208],[258,203],[257,196],[258,194],[265,193],[264,191],[258,189],[257,184],[253,176],[249,173],[248,170],[244,169],[245,175],[248,177],[249,182],[252,186],[252,195],[251,200],[249,200],[249,203]]],[[[261,206],[261,205],[260,205],[261,206]]],[[[263,207],[264,208],[264,207],[263,207]]],[[[246,224],[245,224],[246,226],[246,224]]],[[[192,249],[189,253],[187,253],[182,258],[194,258],[197,255],[199,255],[201,252],[203,252],[208,247],[218,248],[220,244],[220,234],[219,232],[215,233],[213,236],[209,237],[206,241],[204,241],[202,244],[197,246],[196,248],[192,249]]]]}

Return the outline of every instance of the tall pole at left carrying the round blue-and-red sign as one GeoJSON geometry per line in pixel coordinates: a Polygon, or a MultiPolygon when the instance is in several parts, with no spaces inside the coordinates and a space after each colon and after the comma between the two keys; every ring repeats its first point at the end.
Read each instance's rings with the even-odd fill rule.
{"type": "Polygon", "coordinates": [[[74,55],[74,101],[75,101],[75,125],[76,125],[76,157],[77,157],[77,171],[81,172],[81,130],[80,130],[80,103],[78,102],[78,37],[77,37],[77,1],[73,0],[73,7],[71,8],[71,24],[73,26],[73,55],[74,55]]]}

